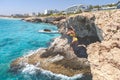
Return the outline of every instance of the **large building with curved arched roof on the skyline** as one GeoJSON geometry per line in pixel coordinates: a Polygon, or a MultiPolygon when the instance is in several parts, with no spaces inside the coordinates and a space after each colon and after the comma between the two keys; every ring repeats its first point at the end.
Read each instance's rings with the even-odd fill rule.
{"type": "Polygon", "coordinates": [[[80,11],[88,11],[88,6],[86,5],[74,5],[74,6],[71,6],[69,8],[67,8],[65,10],[66,13],[77,13],[77,12],[80,12],[80,11]]]}

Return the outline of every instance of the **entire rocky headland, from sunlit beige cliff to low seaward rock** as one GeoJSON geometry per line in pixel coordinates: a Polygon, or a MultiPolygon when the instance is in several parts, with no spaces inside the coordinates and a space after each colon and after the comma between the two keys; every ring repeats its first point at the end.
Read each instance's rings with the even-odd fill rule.
{"type": "Polygon", "coordinates": [[[67,76],[82,73],[88,77],[84,80],[120,80],[119,10],[24,20],[57,25],[62,35],[54,39],[47,49],[39,49],[32,55],[14,60],[11,71],[19,72],[28,63],[67,76]],[[73,50],[71,38],[66,35],[70,26],[75,29],[79,42],[73,50]]]}

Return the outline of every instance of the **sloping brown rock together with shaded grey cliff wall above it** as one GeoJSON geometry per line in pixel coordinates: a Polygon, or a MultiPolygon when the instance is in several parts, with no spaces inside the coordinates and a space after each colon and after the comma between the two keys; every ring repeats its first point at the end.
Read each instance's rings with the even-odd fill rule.
{"type": "Polygon", "coordinates": [[[64,74],[67,76],[74,76],[81,73],[90,74],[90,65],[87,60],[86,46],[92,42],[99,41],[96,31],[97,27],[94,24],[94,19],[92,19],[93,17],[94,16],[87,17],[76,15],[70,16],[66,18],[66,20],[60,20],[58,27],[62,36],[56,38],[51,43],[51,46],[44,51],[40,50],[35,52],[36,54],[27,58],[22,57],[13,61],[11,64],[11,70],[15,70],[16,72],[24,68],[24,64],[20,64],[21,62],[33,65],[36,65],[39,62],[37,67],[50,70],[58,74],[64,74]],[[72,22],[74,24],[72,24],[72,22]],[[73,26],[73,28],[75,28],[76,34],[80,40],[83,39],[81,40],[83,43],[79,43],[79,46],[76,46],[75,48],[71,48],[71,38],[66,35],[65,29],[69,26],[73,26]],[[89,40],[85,41],[84,39],[89,40]],[[17,66],[17,68],[15,66],[17,66]]]}

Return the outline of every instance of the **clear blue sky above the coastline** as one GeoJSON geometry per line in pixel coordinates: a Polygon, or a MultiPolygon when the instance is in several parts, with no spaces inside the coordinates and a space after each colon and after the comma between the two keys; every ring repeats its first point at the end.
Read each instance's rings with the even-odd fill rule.
{"type": "Polygon", "coordinates": [[[45,9],[64,10],[77,4],[103,5],[118,0],[0,0],[0,14],[44,12],[45,9]]]}

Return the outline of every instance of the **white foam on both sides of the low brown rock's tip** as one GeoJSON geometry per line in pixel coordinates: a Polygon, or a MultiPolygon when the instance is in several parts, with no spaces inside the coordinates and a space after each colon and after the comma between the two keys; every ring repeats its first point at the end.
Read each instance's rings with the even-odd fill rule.
{"type": "MultiPolygon", "coordinates": [[[[28,52],[24,55],[25,58],[31,56],[32,54],[37,53],[41,49],[46,48],[39,48],[37,50],[33,50],[28,52]]],[[[20,71],[22,76],[25,80],[80,80],[83,77],[83,74],[77,74],[72,77],[68,77],[62,74],[56,74],[48,70],[44,70],[42,68],[38,68],[37,66],[40,65],[38,62],[36,65],[31,65],[25,62],[20,62],[20,65],[24,65],[25,67],[20,71]]]]}

